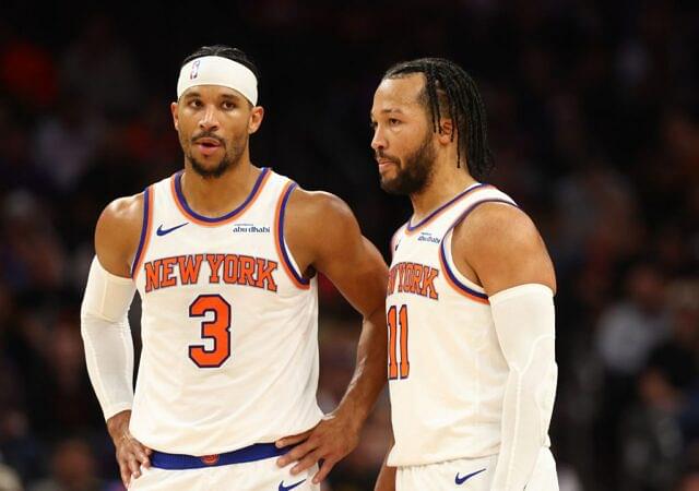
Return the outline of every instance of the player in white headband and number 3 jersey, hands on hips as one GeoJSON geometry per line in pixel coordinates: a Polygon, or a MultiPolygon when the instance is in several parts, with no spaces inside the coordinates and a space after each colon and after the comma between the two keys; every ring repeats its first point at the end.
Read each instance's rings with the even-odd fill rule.
{"type": "Polygon", "coordinates": [[[82,333],[132,490],[318,490],[386,383],[386,264],[341,200],[251,164],[257,81],[238,49],[187,57],[171,104],[183,170],[116,200],[97,223],[82,333]],[[354,379],[324,418],[319,272],[364,315],[354,379]],[[133,394],[127,311],[137,289],[133,394]],[[299,440],[300,462],[277,466],[299,440]]]}

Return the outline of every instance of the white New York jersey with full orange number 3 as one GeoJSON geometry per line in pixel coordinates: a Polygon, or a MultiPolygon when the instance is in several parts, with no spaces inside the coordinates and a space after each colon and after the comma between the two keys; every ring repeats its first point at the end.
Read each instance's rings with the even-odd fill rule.
{"type": "Polygon", "coordinates": [[[131,432],[154,450],[201,456],[308,430],[322,417],[318,295],[284,241],[296,184],[264,168],[237,209],[208,218],[180,179],[144,192],[131,432]]]}

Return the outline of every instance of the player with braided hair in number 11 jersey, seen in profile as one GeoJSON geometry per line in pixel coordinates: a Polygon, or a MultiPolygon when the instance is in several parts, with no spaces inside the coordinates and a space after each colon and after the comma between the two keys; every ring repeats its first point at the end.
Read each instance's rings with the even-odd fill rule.
{"type": "Polygon", "coordinates": [[[377,489],[552,491],[552,262],[496,188],[485,109],[443,59],[391,68],[374,96],[381,187],[408,195],[387,297],[394,443],[377,489]]]}

